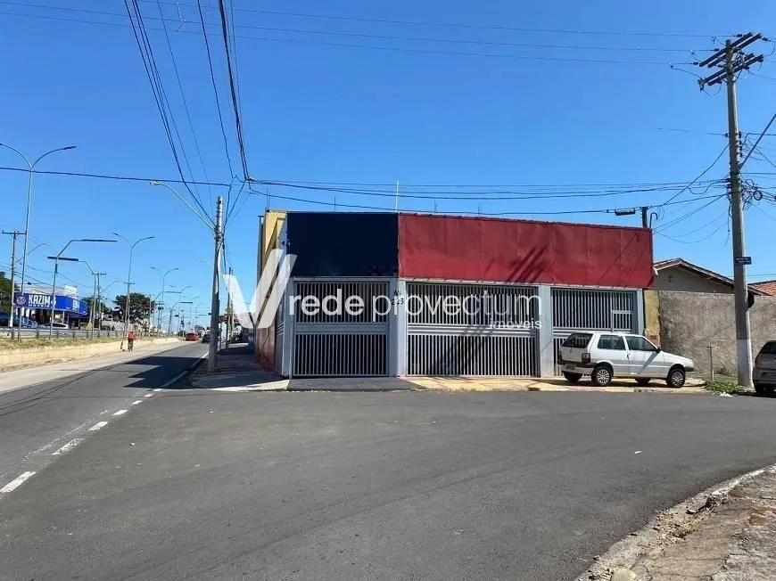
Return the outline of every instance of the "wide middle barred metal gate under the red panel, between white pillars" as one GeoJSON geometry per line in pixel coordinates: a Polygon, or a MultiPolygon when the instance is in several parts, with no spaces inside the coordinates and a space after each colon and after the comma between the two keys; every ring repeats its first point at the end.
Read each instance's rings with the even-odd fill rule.
{"type": "Polygon", "coordinates": [[[538,303],[535,287],[408,282],[407,373],[536,375],[538,303]]]}

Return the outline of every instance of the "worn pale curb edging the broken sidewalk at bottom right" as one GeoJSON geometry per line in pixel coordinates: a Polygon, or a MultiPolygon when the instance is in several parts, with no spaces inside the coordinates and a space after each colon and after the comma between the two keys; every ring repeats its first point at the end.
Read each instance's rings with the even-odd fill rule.
{"type": "Polygon", "coordinates": [[[654,550],[658,544],[665,544],[669,528],[675,531],[695,520],[699,515],[722,503],[731,490],[747,480],[755,479],[765,472],[776,473],[776,464],[749,471],[732,479],[724,480],[708,487],[698,495],[690,496],[681,503],[674,504],[664,511],[657,512],[647,524],[638,531],[617,541],[601,556],[594,557],[595,562],[576,581],[590,579],[636,579],[631,569],[647,551],[654,550]],[[670,522],[665,523],[666,520],[670,522]]]}

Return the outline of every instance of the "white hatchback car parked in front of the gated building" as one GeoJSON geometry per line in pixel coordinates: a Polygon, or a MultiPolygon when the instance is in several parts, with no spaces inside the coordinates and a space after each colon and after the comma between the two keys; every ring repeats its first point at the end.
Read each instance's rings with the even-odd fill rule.
{"type": "Polygon", "coordinates": [[[681,388],[687,373],[695,371],[691,359],[666,353],[641,335],[607,331],[573,333],[563,342],[557,364],[566,381],[576,383],[590,375],[598,387],[628,377],[639,385],[665,380],[669,387],[681,388]]]}

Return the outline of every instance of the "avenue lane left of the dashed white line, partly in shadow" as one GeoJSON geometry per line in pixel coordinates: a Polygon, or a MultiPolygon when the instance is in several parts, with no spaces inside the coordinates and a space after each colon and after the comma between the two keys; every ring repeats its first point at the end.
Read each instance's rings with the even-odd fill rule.
{"type": "MultiPolygon", "coordinates": [[[[84,438],[97,421],[131,407],[137,397],[174,378],[207,351],[189,343],[125,364],[0,393],[0,487],[52,462],[60,446],[84,438]]],[[[93,360],[84,360],[85,370],[93,360]]],[[[3,374],[0,373],[0,387],[3,374]]]]}

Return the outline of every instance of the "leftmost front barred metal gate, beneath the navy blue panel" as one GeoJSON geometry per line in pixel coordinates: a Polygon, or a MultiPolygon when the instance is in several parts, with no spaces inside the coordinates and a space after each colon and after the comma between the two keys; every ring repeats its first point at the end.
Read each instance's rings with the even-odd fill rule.
{"type": "Polygon", "coordinates": [[[294,377],[388,374],[388,282],[297,280],[294,286],[301,297],[293,307],[294,377]],[[318,309],[305,307],[316,301],[318,309]]]}

